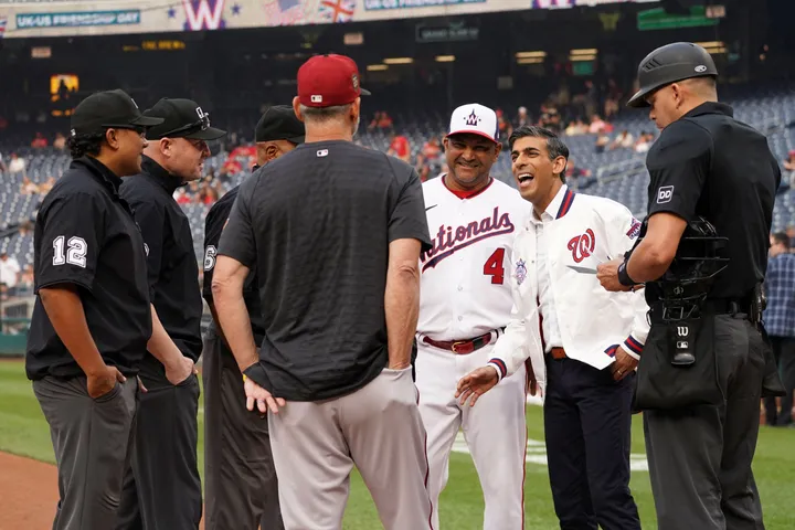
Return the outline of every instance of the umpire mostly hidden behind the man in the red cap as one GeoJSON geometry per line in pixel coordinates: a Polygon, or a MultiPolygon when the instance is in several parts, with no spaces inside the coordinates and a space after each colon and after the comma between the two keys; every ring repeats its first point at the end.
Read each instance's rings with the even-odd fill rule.
{"type": "MultiPolygon", "coordinates": [[[[293,107],[265,110],[254,130],[255,170],[304,144],[304,124],[293,107]]],[[[240,187],[224,194],[208,212],[204,223],[204,299],[213,315],[204,339],[204,491],[205,530],[284,528],[278,505],[278,483],[273,465],[267,420],[243,406],[245,391],[237,362],[218,324],[212,277],[221,231],[226,224],[240,187]]],[[[265,337],[255,271],[243,286],[254,340],[265,337]]]]}

